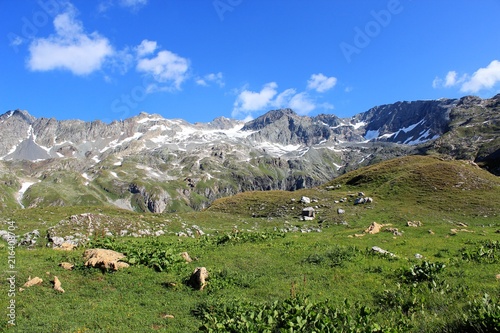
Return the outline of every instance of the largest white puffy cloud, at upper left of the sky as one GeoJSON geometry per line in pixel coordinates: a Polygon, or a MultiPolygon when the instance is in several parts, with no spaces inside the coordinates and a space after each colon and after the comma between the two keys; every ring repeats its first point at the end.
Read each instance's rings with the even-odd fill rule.
{"type": "Polygon", "coordinates": [[[109,40],[97,32],[86,34],[70,7],[54,18],[55,34],[31,42],[27,66],[33,71],[63,69],[75,75],[88,75],[101,69],[114,54],[109,40]]]}

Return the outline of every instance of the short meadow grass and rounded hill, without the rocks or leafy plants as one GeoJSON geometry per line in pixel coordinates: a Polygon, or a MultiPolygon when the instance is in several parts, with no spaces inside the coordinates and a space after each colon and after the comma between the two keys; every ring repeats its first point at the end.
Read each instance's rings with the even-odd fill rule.
{"type": "MultiPolygon", "coordinates": [[[[84,268],[68,272],[57,266],[61,261],[81,266],[83,249],[71,253],[47,248],[18,249],[17,286],[21,286],[28,276],[40,276],[44,283],[16,294],[17,326],[11,330],[192,332],[201,325],[200,319],[192,314],[200,305],[220,306],[218,302],[231,304],[237,300],[271,302],[285,299],[291,293],[306,294],[316,301],[330,299],[336,304],[348,298],[384,309],[387,304],[383,302],[388,302],[388,298],[381,295],[386,290],[390,295],[398,295],[397,285],[401,283],[398,271],[420,263],[414,257],[419,253],[430,262],[446,263],[441,278],[450,288],[443,294],[431,293],[425,288],[420,290],[419,299],[426,301],[421,310],[412,312],[416,318],[412,331],[439,331],[441,325],[460,320],[469,299],[484,293],[500,294],[500,284],[495,279],[495,274],[500,273],[498,264],[462,260],[462,253],[476,251],[482,242],[500,240],[500,234],[496,233],[500,229],[499,194],[498,177],[472,165],[415,156],[351,172],[320,188],[241,193],[219,199],[210,209],[199,213],[138,215],[96,207],[4,213],[3,218],[16,221],[23,232],[38,227],[42,233],[71,214],[90,211],[138,222],[168,221],[171,234],[159,238],[162,247],[172,248],[174,252],[188,251],[198,258],[193,263],[161,273],[133,266],[102,274],[84,268]],[[327,190],[328,186],[337,184],[342,185],[340,189],[327,190]],[[359,191],[373,197],[374,202],[353,205],[359,191]],[[306,206],[299,202],[302,195],[317,200],[312,203],[318,206],[316,221],[298,220],[301,208],[306,206]],[[347,202],[335,203],[344,197],[347,202]],[[343,208],[345,214],[337,214],[337,208],[343,208]],[[423,227],[406,227],[408,220],[420,220],[423,227]],[[223,245],[205,239],[178,238],[173,234],[182,230],[183,224],[196,224],[213,235],[209,239],[221,237],[233,229],[273,235],[275,227],[316,227],[318,221],[322,221],[321,233],[287,233],[284,238],[242,240],[223,245]],[[344,221],[347,226],[341,224],[344,221]],[[353,237],[373,221],[390,223],[404,234],[395,237],[381,232],[353,237]],[[452,235],[450,229],[462,228],[458,223],[468,224],[467,230],[472,232],[452,235]],[[395,253],[399,259],[367,254],[366,249],[375,245],[395,253]],[[340,260],[337,265],[332,258],[339,249],[355,255],[340,260]],[[207,267],[211,274],[210,283],[202,292],[193,291],[184,284],[198,266],[207,267]],[[60,278],[66,293],[59,294],[51,289],[49,281],[53,275],[60,278]],[[175,318],[165,318],[166,314],[175,318]]],[[[144,241],[147,240],[140,242],[144,241]]],[[[131,244],[136,240],[123,239],[123,242],[131,244]]],[[[7,258],[5,246],[0,248],[0,255],[7,258]]],[[[7,259],[0,264],[3,290],[7,289],[6,264],[7,259]]],[[[0,301],[7,304],[6,292],[0,294],[0,301]]],[[[382,311],[378,320],[388,324],[386,321],[393,315],[389,310],[382,311]]],[[[0,323],[5,327],[5,317],[0,323]]]]}

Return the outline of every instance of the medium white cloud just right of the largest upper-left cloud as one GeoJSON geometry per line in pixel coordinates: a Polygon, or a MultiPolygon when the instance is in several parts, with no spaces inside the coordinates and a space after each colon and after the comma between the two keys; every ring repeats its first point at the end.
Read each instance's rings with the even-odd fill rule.
{"type": "Polygon", "coordinates": [[[168,83],[168,89],[180,89],[188,77],[189,60],[173,52],[163,50],[154,58],[142,58],[137,62],[137,71],[153,76],[161,83],[168,83]]]}

